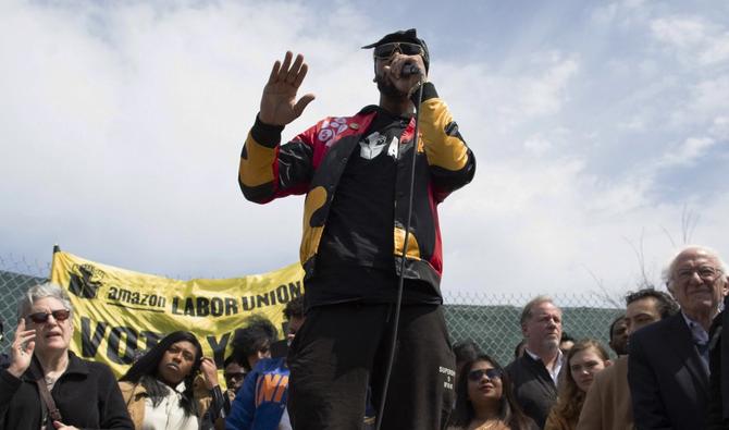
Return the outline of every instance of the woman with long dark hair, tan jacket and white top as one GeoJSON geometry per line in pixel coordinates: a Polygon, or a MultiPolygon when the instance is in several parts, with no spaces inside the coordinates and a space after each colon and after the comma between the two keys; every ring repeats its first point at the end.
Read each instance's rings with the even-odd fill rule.
{"type": "MultiPolygon", "coordinates": [[[[164,336],[119,382],[137,430],[198,430],[223,427],[223,393],[214,361],[190,332],[164,336]],[[196,379],[202,373],[202,381],[196,379]]],[[[230,406],[228,406],[230,409],[230,406]]]]}

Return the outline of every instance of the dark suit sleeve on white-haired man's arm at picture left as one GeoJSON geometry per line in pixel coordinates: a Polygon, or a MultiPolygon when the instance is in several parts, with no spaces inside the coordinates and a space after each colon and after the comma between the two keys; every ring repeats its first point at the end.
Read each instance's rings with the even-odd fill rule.
{"type": "MultiPolygon", "coordinates": [[[[640,334],[639,331],[637,334],[640,334]]],[[[658,381],[645,352],[644,337],[630,337],[628,343],[628,384],[638,429],[671,429],[658,381]]]]}

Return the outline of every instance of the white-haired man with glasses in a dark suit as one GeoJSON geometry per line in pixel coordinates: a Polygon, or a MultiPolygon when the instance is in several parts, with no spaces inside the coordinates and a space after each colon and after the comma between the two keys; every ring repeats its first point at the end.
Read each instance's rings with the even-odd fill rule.
{"type": "Polygon", "coordinates": [[[681,250],[664,271],[681,311],[630,336],[628,383],[639,429],[701,430],[708,404],[708,329],[727,295],[725,265],[704,247],[681,250]]]}

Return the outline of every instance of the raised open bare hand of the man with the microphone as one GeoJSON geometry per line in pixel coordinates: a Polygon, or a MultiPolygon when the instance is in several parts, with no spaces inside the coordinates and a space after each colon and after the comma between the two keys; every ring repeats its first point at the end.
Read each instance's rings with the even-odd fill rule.
{"type": "Polygon", "coordinates": [[[261,111],[258,118],[261,122],[270,125],[286,125],[301,115],[304,109],[314,99],[313,94],[301,96],[296,100],[304,77],[309,66],[304,62],[304,57],[296,56],[294,64],[291,51],[286,52],[283,64],[281,61],[273,63],[269,82],[263,87],[261,97],[261,111]]]}

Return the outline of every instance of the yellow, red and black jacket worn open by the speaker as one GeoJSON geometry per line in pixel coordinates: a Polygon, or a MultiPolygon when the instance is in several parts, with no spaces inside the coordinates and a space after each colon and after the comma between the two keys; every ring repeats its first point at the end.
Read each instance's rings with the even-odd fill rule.
{"type": "MultiPolygon", "coordinates": [[[[248,134],[238,170],[244,196],[265,204],[292,194],[307,194],[300,247],[305,281],[314,274],[317,250],[342,172],[374,115],[375,107],[366,107],[354,116],[325,118],[284,145],[280,145],[283,127],[263,124],[258,119],[248,134]]],[[[393,257],[398,271],[407,224],[413,132],[415,120],[411,120],[399,139],[393,232],[393,257]]],[[[440,291],[443,256],[436,207],[453,191],[468,184],[474,172],[475,159],[458,125],[435,87],[425,83],[406,279],[425,281],[440,291]]]]}

